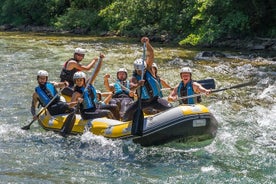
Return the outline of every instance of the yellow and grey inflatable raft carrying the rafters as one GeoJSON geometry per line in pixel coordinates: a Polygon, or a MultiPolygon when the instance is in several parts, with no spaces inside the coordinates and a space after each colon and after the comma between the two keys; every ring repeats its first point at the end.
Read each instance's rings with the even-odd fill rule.
{"type": "MultiPolygon", "coordinates": [[[[51,116],[47,111],[39,117],[39,124],[46,130],[59,132],[67,115],[51,116]]],[[[156,115],[144,118],[143,136],[131,135],[132,122],[96,118],[83,120],[76,114],[72,134],[91,131],[110,139],[132,139],[142,146],[161,145],[170,141],[183,140],[191,136],[212,138],[216,135],[218,123],[209,109],[203,105],[180,105],[156,115]]]]}

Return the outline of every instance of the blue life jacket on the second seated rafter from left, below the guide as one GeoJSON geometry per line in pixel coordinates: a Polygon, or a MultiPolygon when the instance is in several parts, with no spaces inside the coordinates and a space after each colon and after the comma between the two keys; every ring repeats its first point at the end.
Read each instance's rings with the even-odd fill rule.
{"type": "Polygon", "coordinates": [[[81,88],[82,94],[83,94],[83,102],[82,102],[82,108],[85,109],[92,109],[95,108],[98,103],[97,99],[97,92],[93,85],[89,85],[88,88],[85,89],[85,87],[81,88]]]}

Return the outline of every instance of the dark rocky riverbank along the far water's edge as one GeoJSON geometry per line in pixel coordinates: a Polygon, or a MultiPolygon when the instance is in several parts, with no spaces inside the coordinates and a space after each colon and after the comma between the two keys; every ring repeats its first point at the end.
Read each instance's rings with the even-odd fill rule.
{"type": "MultiPolygon", "coordinates": [[[[88,34],[87,30],[84,29],[74,29],[70,31],[57,31],[54,28],[51,27],[44,27],[44,26],[19,26],[14,27],[11,25],[1,25],[0,31],[3,32],[32,32],[32,33],[45,33],[45,34],[61,34],[61,35],[86,35],[88,34]]],[[[93,35],[93,36],[118,36],[111,32],[101,32],[99,35],[93,35]]],[[[119,36],[118,36],[119,37],[119,36]]],[[[170,35],[162,35],[162,34],[156,34],[153,36],[150,36],[150,39],[154,42],[158,43],[166,43],[166,44],[172,44],[175,46],[179,46],[176,41],[174,41],[174,38],[170,35]]],[[[192,46],[191,46],[192,47],[192,46]]],[[[191,48],[190,47],[190,48],[191,48]]],[[[264,52],[272,52],[272,57],[276,57],[276,54],[273,55],[273,52],[276,51],[276,38],[226,38],[221,39],[218,41],[214,41],[212,44],[203,44],[197,46],[201,49],[204,48],[227,48],[227,49],[233,49],[233,50],[248,50],[248,51],[264,51],[264,52]]]]}

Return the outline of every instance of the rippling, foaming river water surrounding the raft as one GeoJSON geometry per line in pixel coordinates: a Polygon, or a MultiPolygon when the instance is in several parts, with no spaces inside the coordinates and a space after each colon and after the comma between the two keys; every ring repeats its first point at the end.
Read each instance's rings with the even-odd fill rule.
{"type": "Polygon", "coordinates": [[[213,140],[144,148],[90,133],[65,139],[37,123],[21,129],[32,120],[39,69],[58,81],[75,47],[88,50],[83,64],[104,53],[95,85],[105,91],[105,73],[115,76],[125,67],[131,75],[142,56],[138,40],[0,33],[0,183],[276,182],[276,62],[264,53],[220,51],[226,57],[204,58],[196,50],[154,45],[158,72],[171,85],[186,65],[194,79],[214,78],[217,88],[256,81],[203,97],[219,122],[213,140]]]}

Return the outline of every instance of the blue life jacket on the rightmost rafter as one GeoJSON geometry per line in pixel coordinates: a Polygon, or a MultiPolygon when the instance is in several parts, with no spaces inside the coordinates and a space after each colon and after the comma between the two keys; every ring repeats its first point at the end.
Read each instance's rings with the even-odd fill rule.
{"type": "MultiPolygon", "coordinates": [[[[188,82],[186,86],[184,85],[183,81],[181,81],[178,85],[177,95],[179,97],[194,95],[193,81],[188,82]]],[[[195,104],[197,102],[197,98],[194,97],[183,99],[182,102],[184,104],[195,104]]]]}

